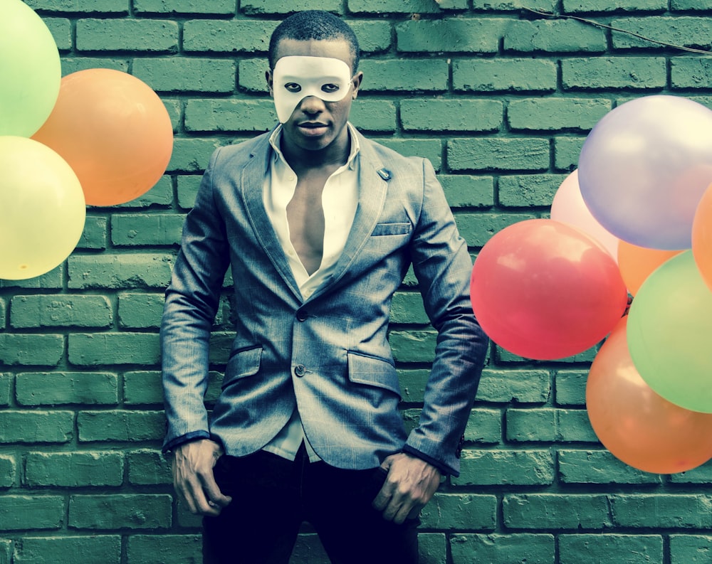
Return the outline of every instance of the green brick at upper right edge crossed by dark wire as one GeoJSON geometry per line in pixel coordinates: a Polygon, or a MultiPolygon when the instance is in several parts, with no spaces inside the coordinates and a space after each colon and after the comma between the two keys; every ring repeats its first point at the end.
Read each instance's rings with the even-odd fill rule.
{"type": "Polygon", "coordinates": [[[645,41],[629,33],[613,31],[611,41],[616,49],[661,48],[660,43],[655,43],[656,41],[683,47],[709,48],[709,29],[712,25],[712,18],[647,16],[645,18],[614,19],[610,25],[654,40],[645,41]]]}

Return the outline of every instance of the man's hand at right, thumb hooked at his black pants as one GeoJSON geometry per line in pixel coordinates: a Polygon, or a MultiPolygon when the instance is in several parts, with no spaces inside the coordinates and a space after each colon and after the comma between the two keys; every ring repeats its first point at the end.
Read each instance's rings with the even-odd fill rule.
{"type": "Polygon", "coordinates": [[[387,521],[400,524],[417,517],[440,485],[436,467],[404,452],[387,457],[381,467],[388,476],[373,506],[387,521]]]}

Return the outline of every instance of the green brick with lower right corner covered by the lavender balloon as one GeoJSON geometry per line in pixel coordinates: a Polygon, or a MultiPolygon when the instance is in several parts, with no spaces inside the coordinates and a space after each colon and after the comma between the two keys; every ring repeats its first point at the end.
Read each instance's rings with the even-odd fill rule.
{"type": "Polygon", "coordinates": [[[527,98],[509,102],[507,121],[518,131],[587,131],[612,109],[604,99],[527,98]]]}

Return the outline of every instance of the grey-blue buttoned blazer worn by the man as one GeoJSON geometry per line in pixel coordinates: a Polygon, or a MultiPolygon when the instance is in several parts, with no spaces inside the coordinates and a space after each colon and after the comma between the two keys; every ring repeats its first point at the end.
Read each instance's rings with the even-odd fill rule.
{"type": "Polygon", "coordinates": [[[184,225],[161,328],[164,449],[211,437],[244,456],[297,406],[330,465],[376,467],[404,450],[457,474],[488,339],[470,305],[471,258],[431,164],[359,137],[350,235],[333,276],[303,300],[263,206],[268,136],[214,152],[184,225]],[[407,434],[387,330],[411,264],[439,336],[419,425],[407,434]],[[228,267],[235,338],[209,416],[208,343],[228,267]]]}

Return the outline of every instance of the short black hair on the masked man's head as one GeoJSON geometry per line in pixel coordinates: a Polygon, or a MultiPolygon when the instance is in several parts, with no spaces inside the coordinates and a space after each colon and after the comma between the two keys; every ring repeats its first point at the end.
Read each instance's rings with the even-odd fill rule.
{"type": "Polygon", "coordinates": [[[283,39],[345,39],[352,55],[352,72],[356,73],[360,58],[358,39],[352,28],[340,17],[323,10],[297,12],[283,20],[272,32],[269,41],[269,65],[274,69],[277,62],[277,45],[283,39]]]}

